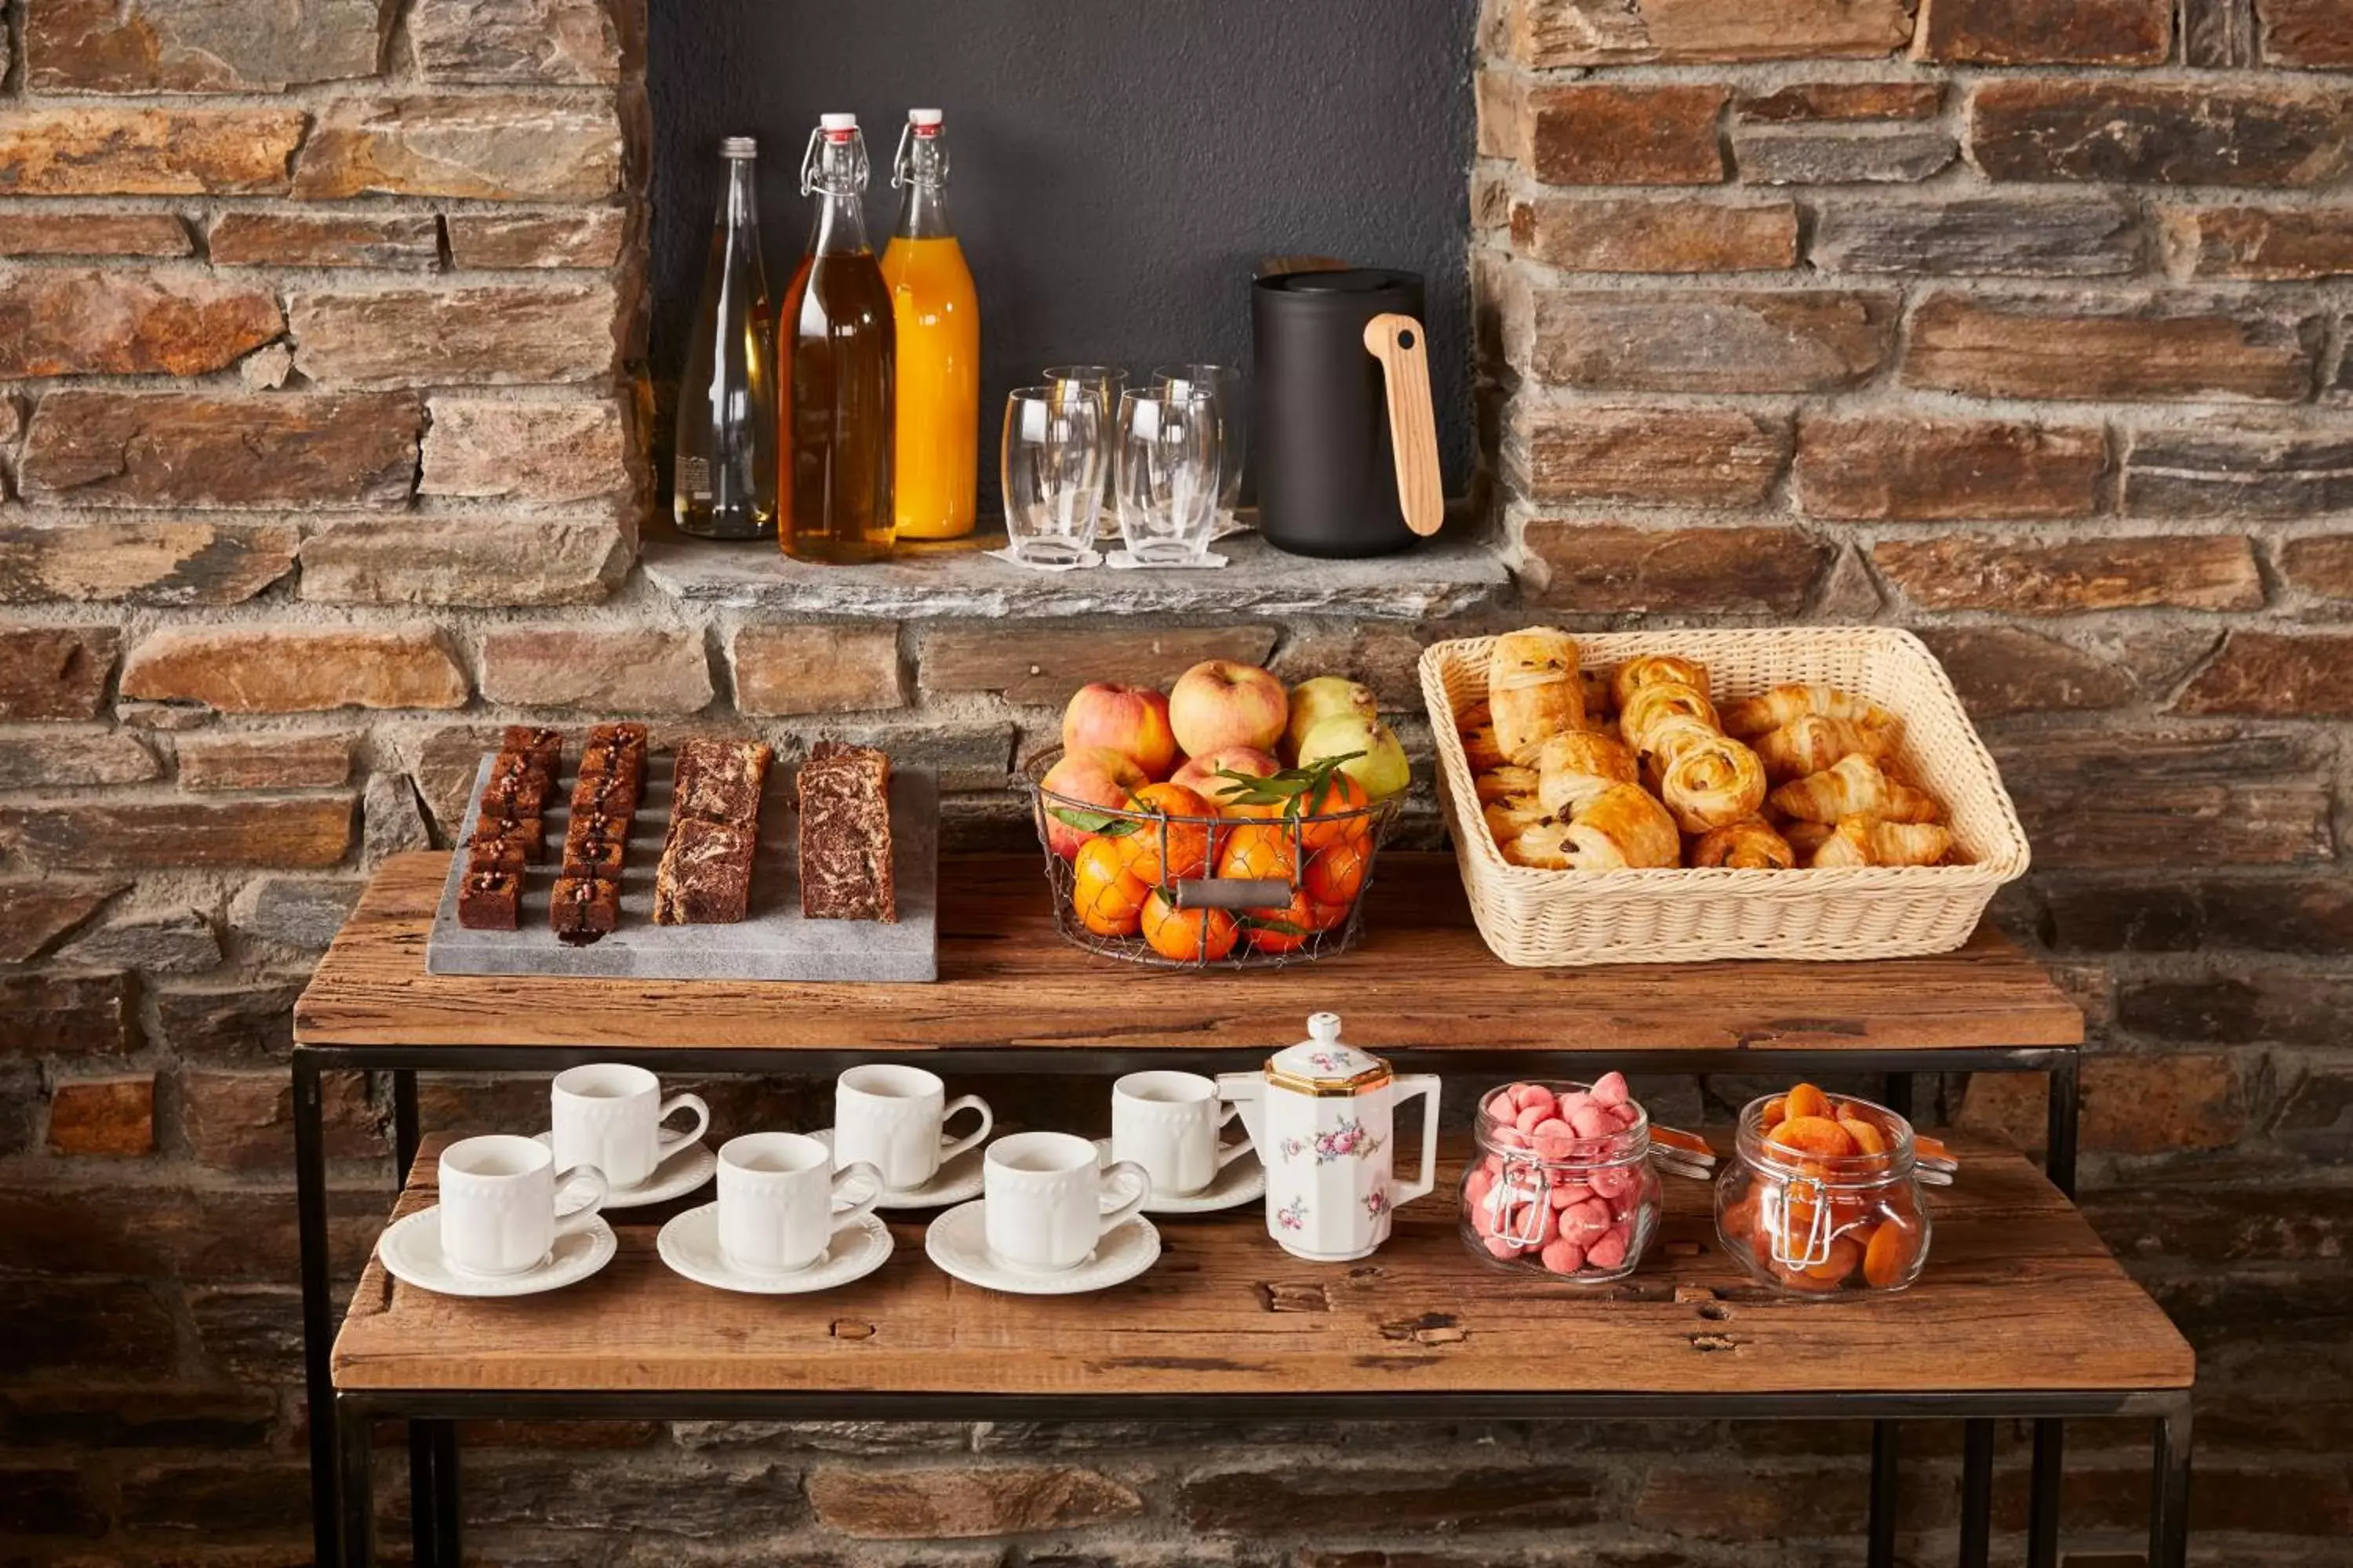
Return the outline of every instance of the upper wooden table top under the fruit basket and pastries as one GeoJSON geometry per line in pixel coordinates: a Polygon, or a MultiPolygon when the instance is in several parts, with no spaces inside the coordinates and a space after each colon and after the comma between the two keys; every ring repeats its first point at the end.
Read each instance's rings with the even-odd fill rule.
{"type": "Polygon", "coordinates": [[[1866,964],[1513,969],[1449,856],[1384,853],[1365,943],[1292,969],[1184,973],[1054,933],[1038,856],[941,865],[939,980],[805,985],[428,976],[447,853],[386,860],[294,1006],[311,1046],[732,1046],[833,1051],[1268,1048],[1339,1011],[1372,1048],[2073,1046],[2082,1013],[2009,938],[1866,964]]]}

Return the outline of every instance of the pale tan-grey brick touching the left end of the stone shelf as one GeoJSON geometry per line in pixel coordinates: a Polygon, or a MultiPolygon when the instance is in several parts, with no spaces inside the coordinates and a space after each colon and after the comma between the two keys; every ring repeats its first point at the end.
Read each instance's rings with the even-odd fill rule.
{"type": "Polygon", "coordinates": [[[621,585],[619,522],[386,517],[301,543],[301,597],[327,604],[595,604],[621,585]]]}

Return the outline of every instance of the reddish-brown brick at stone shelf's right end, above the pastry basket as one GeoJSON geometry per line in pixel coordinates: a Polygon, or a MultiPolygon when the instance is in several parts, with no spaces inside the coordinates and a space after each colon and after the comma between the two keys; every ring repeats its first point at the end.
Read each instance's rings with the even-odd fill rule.
{"type": "Polygon", "coordinates": [[[1795,616],[1835,550],[1798,529],[1631,529],[1534,517],[1518,571],[1537,604],[1591,614],[1795,616]]]}

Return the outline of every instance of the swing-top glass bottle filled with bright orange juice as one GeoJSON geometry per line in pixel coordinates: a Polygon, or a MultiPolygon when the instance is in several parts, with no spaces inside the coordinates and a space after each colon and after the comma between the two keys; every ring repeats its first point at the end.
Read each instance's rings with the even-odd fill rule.
{"type": "Polygon", "coordinates": [[[981,484],[981,301],[948,228],[948,139],[936,108],[906,110],[889,183],[906,190],[882,252],[899,327],[899,538],[962,538],[981,484]]]}

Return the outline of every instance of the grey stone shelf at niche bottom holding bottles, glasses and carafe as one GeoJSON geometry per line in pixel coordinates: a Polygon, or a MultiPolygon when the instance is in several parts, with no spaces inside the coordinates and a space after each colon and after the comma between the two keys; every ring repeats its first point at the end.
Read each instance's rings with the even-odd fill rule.
{"type": "Polygon", "coordinates": [[[1233,564],[1207,571],[1024,571],[984,555],[1000,538],[901,548],[880,567],[812,567],[774,545],[649,538],[647,581],[725,609],[842,618],[972,616],[1344,616],[1426,621],[1501,604],[1504,559],[1468,531],[1362,562],[1282,555],[1257,534],[1219,541],[1233,564]]]}

